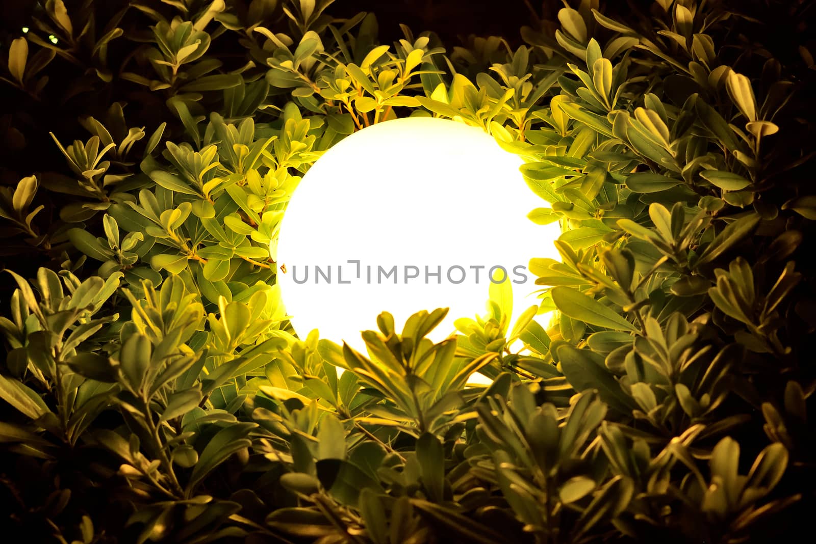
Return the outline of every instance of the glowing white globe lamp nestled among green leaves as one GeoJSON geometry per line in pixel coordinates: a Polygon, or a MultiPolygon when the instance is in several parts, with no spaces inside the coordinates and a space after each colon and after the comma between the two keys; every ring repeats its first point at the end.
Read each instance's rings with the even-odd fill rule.
{"type": "Polygon", "coordinates": [[[420,309],[450,307],[430,335],[439,341],[455,319],[486,314],[494,266],[520,282],[514,322],[539,302],[530,258],[557,258],[552,241],[561,234],[557,223],[526,217],[542,202],[521,164],[481,129],[428,117],[372,125],[331,147],[295,190],[280,230],[286,273],[277,281],[295,331],[317,328],[366,353],[360,331],[377,330],[384,310],[401,331],[420,309]],[[394,266],[396,284],[385,275],[394,266]]]}

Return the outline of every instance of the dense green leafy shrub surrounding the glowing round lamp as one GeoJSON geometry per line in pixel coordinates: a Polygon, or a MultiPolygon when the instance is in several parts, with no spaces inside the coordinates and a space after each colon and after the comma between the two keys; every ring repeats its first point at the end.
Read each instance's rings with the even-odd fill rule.
{"type": "Polygon", "coordinates": [[[375,15],[330,3],[47,0],[7,38],[2,529],[356,544],[806,530],[810,2],[545,2],[521,46],[407,28],[380,45],[375,15]],[[409,115],[524,157],[530,219],[564,228],[561,261],[530,261],[541,304],[508,323],[493,287],[439,344],[424,336],[444,310],[419,308],[403,331],[361,324],[379,329],[368,353],[299,339],[269,252],[286,201],[339,139],[409,115]],[[532,321],[551,309],[551,327],[532,321]],[[477,370],[490,387],[467,385],[477,370]]]}

